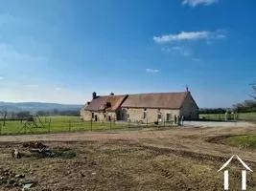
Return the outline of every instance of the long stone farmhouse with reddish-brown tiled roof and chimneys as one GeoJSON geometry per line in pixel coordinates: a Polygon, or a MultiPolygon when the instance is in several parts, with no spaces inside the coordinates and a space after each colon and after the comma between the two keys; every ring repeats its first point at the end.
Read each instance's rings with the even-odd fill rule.
{"type": "Polygon", "coordinates": [[[198,119],[198,105],[189,91],[137,95],[97,96],[81,108],[83,120],[130,120],[144,123],[198,119]]]}

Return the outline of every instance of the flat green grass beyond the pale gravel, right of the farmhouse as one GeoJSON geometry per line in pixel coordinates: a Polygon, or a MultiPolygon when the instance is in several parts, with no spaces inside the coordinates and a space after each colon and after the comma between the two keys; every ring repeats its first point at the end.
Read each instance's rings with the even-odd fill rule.
{"type": "MultiPolygon", "coordinates": [[[[225,120],[224,114],[200,114],[199,117],[205,117],[209,120],[225,120]]],[[[256,120],[256,113],[242,113],[238,114],[240,120],[256,120]]]]}

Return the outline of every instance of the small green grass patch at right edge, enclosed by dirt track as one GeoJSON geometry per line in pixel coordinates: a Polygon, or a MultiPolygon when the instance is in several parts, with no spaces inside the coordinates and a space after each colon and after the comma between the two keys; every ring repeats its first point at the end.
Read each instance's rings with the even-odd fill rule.
{"type": "Polygon", "coordinates": [[[256,148],[256,136],[239,136],[226,138],[225,143],[230,146],[256,148]]]}

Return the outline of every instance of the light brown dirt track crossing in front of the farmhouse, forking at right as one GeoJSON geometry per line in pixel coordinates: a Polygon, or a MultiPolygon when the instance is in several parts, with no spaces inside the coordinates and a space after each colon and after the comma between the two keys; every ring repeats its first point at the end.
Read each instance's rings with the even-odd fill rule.
{"type": "Polygon", "coordinates": [[[242,155],[246,160],[256,161],[254,152],[241,150],[207,141],[221,136],[256,134],[255,127],[216,127],[216,128],[173,128],[149,131],[108,131],[86,132],[72,134],[3,136],[0,141],[82,141],[82,140],[130,140],[143,145],[152,145],[172,150],[193,151],[220,157],[230,157],[233,154],[242,155]]]}

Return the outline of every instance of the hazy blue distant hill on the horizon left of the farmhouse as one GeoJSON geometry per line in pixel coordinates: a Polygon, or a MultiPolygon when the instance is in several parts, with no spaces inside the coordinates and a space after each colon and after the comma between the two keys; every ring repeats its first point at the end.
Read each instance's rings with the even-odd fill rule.
{"type": "Polygon", "coordinates": [[[19,111],[51,111],[58,109],[58,111],[74,110],[80,111],[83,105],[76,104],[58,104],[58,103],[42,103],[42,102],[1,102],[0,111],[7,110],[8,112],[19,112],[19,111]]]}

